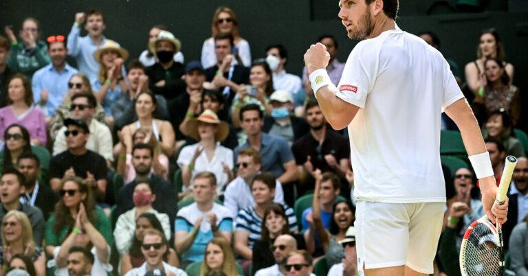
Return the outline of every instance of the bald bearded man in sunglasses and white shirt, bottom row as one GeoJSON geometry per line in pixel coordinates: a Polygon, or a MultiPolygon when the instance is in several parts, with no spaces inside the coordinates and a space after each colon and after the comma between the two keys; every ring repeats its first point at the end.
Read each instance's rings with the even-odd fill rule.
{"type": "Polygon", "coordinates": [[[275,264],[262,268],[255,273],[255,276],[284,276],[288,272],[284,267],[286,257],[290,252],[297,249],[297,242],[292,235],[279,235],[271,247],[275,264]]]}

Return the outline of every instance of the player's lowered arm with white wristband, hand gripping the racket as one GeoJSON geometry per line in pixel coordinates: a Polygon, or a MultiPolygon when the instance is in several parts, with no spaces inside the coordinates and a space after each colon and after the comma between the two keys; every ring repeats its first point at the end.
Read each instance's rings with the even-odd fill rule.
{"type": "Polygon", "coordinates": [[[481,134],[481,129],[478,127],[478,123],[476,122],[476,118],[470,105],[465,98],[462,98],[448,106],[448,108],[445,108],[445,113],[454,121],[456,126],[459,127],[465,150],[467,151],[467,155],[470,156],[470,160],[472,161],[473,168],[477,174],[478,182],[481,187],[482,204],[486,215],[493,222],[494,217],[498,218],[500,223],[506,222],[506,215],[498,214],[497,210],[501,210],[500,213],[502,213],[502,210],[507,208],[507,204],[501,205],[500,207],[494,206],[492,208],[497,193],[497,186],[494,174],[492,173],[493,170],[491,169],[491,163],[489,162],[489,156],[485,157],[487,158],[486,161],[489,162],[489,165],[487,163],[485,164],[485,168],[483,168],[483,163],[472,160],[472,157],[479,156],[479,154],[487,154],[487,150],[481,134]],[[491,175],[478,177],[479,171],[486,170],[492,170],[491,175]]]}

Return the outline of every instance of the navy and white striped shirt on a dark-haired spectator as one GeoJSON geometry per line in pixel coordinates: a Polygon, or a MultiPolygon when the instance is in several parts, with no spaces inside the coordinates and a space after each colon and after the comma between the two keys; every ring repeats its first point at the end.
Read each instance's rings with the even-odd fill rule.
{"type": "MultiPolygon", "coordinates": [[[[299,228],[294,209],[290,208],[288,205],[284,205],[284,209],[288,218],[289,231],[298,231],[299,228]]],[[[241,209],[239,211],[239,215],[236,216],[236,231],[246,231],[249,233],[248,246],[250,246],[250,249],[253,249],[253,244],[261,239],[262,218],[256,214],[253,207],[241,209]]]]}

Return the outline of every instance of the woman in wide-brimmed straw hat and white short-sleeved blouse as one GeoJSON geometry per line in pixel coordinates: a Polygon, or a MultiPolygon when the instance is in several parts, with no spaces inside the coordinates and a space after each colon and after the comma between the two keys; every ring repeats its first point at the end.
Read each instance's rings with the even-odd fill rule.
{"type": "Polygon", "coordinates": [[[212,172],[217,178],[217,192],[233,179],[233,151],[220,145],[228,137],[229,126],[218,119],[216,113],[206,109],[186,124],[186,133],[198,143],[181,149],[177,163],[181,168],[184,190],[189,188],[192,176],[199,172],[212,172]]]}

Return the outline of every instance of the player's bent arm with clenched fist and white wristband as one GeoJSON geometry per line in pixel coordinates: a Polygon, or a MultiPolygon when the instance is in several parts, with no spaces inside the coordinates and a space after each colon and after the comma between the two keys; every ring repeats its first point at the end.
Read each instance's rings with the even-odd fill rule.
{"type": "MultiPolygon", "coordinates": [[[[321,43],[311,45],[305,54],[308,76],[318,69],[325,69],[329,60],[330,54],[325,45],[321,43]]],[[[352,122],[352,119],[360,108],[337,97],[337,88],[329,81],[329,78],[323,78],[319,85],[325,84],[325,82],[328,85],[314,87],[314,84],[312,84],[312,88],[316,93],[321,111],[332,128],[336,130],[343,129],[352,122]]]]}

